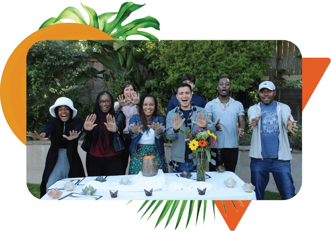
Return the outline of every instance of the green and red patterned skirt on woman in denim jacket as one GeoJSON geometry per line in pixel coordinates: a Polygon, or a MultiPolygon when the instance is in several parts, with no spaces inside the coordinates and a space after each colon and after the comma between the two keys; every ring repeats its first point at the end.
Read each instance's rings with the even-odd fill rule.
{"type": "Polygon", "coordinates": [[[164,173],[168,173],[168,164],[166,156],[159,156],[155,144],[140,144],[138,143],[136,153],[131,155],[129,175],[138,174],[141,172],[141,160],[144,156],[156,156],[158,168],[162,169],[164,173]]]}

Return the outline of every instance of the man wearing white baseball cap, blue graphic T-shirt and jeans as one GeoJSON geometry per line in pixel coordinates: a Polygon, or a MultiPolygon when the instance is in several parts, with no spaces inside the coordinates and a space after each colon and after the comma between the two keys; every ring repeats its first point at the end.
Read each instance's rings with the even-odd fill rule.
{"type": "Polygon", "coordinates": [[[269,173],[275,180],[282,200],[294,197],[291,175],[290,144],[286,129],[298,131],[288,105],[274,101],[275,85],[264,81],[259,86],[261,102],[248,109],[249,127],[252,141],[249,152],[251,157],[251,181],[256,187],[257,200],[264,200],[264,190],[269,182],[269,173]]]}

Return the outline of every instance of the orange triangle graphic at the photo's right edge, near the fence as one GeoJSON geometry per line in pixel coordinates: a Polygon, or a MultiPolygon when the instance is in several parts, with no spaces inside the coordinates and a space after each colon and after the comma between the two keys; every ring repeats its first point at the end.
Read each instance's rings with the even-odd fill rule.
{"type": "Polygon", "coordinates": [[[330,58],[302,58],[302,110],[307,105],[329,64],[330,58]]]}

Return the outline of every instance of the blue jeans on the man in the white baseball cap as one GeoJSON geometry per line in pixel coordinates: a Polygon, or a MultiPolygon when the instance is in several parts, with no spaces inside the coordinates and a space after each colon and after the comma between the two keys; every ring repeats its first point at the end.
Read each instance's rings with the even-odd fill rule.
{"type": "Polygon", "coordinates": [[[254,191],[257,200],[264,200],[264,190],[269,182],[269,173],[272,173],[282,200],[294,197],[294,185],[289,160],[251,158],[251,181],[255,186],[254,191]]]}

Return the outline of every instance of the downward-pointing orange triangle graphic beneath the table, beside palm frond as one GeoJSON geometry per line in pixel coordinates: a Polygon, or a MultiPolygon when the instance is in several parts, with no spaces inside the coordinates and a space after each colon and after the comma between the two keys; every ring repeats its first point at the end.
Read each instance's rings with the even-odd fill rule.
{"type": "MultiPolygon", "coordinates": [[[[225,223],[227,224],[227,226],[231,231],[237,228],[239,221],[241,220],[244,213],[246,212],[246,209],[249,206],[247,201],[242,200],[241,202],[243,203],[244,206],[242,206],[239,201],[233,201],[234,205],[237,208],[236,210],[231,201],[224,201],[225,210],[226,210],[226,215],[225,215],[222,201],[215,201],[215,205],[217,209],[222,214],[225,223]]],[[[251,203],[251,201],[249,201],[249,203],[251,203]]]]}

